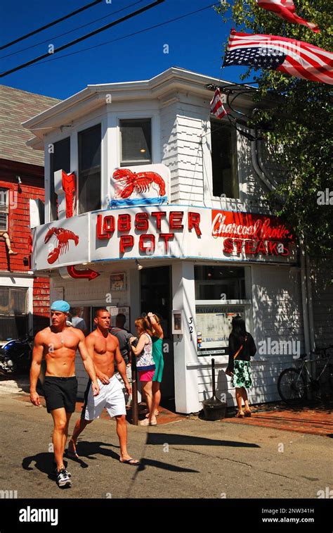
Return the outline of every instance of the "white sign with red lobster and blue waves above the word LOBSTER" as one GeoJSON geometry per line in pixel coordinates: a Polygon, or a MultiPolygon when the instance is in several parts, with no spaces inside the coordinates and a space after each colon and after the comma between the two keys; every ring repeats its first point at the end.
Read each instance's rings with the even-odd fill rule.
{"type": "Polygon", "coordinates": [[[111,176],[110,208],[168,203],[170,170],[166,165],[115,168],[111,176]]]}

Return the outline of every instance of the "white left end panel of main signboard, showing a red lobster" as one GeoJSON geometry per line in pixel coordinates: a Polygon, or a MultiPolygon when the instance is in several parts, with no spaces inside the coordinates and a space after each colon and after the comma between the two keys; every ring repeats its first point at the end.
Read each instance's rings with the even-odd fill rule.
{"type": "Polygon", "coordinates": [[[55,220],[33,230],[32,265],[49,269],[89,261],[89,216],[55,220]]]}

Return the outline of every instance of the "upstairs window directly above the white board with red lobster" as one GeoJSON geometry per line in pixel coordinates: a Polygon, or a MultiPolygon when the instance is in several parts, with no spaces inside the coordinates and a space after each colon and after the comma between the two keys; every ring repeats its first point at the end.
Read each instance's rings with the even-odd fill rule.
{"type": "Polygon", "coordinates": [[[120,166],[148,165],[152,162],[152,124],[150,118],[120,120],[120,166]]]}

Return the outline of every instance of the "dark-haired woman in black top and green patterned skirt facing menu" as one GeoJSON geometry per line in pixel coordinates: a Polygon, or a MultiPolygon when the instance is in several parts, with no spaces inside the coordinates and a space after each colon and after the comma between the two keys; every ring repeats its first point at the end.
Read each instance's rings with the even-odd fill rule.
{"type": "Polygon", "coordinates": [[[232,322],[233,330],[229,335],[229,362],[226,374],[232,377],[231,385],[235,387],[237,401],[237,418],[251,416],[247,389],[252,387],[250,360],[256,353],[256,344],[252,335],[245,329],[245,322],[235,316],[232,322]],[[244,410],[242,408],[244,401],[244,410]]]}

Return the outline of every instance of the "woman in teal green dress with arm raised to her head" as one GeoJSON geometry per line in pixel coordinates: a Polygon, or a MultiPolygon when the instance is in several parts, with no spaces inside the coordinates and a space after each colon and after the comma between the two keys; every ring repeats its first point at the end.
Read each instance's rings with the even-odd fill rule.
{"type": "Polygon", "coordinates": [[[152,401],[155,406],[155,416],[159,415],[159,402],[161,401],[161,391],[159,389],[162,382],[164,360],[163,360],[163,330],[157,315],[148,313],[148,319],[152,325],[152,358],[155,363],[155,374],[152,378],[152,401]]]}

